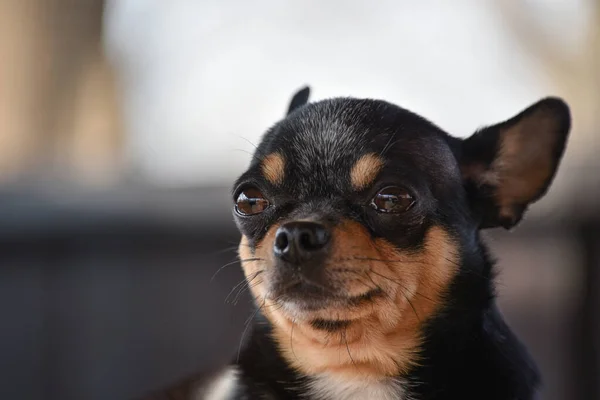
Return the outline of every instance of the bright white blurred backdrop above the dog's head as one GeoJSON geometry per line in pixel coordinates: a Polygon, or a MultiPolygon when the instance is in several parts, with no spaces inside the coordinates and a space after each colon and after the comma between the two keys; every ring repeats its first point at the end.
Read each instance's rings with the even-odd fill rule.
{"type": "MultiPolygon", "coordinates": [[[[582,1],[528,4],[568,49],[582,1]]],[[[304,84],[313,100],[381,98],[458,136],[560,96],[492,4],[113,0],[106,46],[130,164],[155,183],[232,180],[304,84]]]]}

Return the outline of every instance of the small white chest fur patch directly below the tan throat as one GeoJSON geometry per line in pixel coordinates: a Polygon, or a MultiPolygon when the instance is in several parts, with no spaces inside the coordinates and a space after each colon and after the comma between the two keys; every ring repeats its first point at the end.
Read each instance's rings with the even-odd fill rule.
{"type": "Polygon", "coordinates": [[[402,383],[389,379],[381,382],[341,380],[332,376],[314,379],[308,387],[314,400],[414,400],[405,394],[402,383]]]}

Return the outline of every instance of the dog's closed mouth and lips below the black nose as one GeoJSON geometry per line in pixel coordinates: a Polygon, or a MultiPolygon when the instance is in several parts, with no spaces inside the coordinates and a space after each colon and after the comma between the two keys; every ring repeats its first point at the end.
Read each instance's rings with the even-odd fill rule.
{"type": "Polygon", "coordinates": [[[308,315],[327,310],[352,310],[374,301],[382,294],[380,289],[373,289],[350,295],[344,288],[332,289],[307,281],[298,281],[272,290],[269,297],[291,314],[308,315]]]}

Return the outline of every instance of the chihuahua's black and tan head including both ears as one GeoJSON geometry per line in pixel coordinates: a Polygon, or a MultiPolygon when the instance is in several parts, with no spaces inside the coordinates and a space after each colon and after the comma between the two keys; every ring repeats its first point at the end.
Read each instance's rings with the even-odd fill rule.
{"type": "Polygon", "coordinates": [[[514,226],[548,189],[569,110],[547,98],[461,140],[384,101],[307,97],[235,184],[243,269],[299,371],[397,375],[478,230],[514,226]]]}

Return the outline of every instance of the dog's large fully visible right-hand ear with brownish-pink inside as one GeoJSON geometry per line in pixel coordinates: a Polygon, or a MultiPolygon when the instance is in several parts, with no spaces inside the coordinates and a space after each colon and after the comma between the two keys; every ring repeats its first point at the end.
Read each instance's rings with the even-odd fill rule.
{"type": "Polygon", "coordinates": [[[567,104],[545,98],[462,141],[459,164],[480,228],[512,228],[546,193],[570,126],[567,104]]]}

